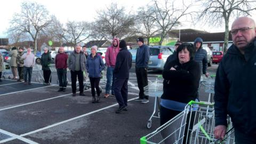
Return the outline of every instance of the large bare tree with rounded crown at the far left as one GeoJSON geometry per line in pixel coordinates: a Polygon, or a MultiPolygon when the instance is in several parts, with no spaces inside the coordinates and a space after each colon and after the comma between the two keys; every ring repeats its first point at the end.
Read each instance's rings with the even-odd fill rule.
{"type": "Polygon", "coordinates": [[[44,5],[36,2],[23,2],[21,12],[15,13],[11,20],[9,31],[22,31],[28,33],[34,41],[34,52],[37,51],[37,36],[52,22],[49,12],[44,5]]]}

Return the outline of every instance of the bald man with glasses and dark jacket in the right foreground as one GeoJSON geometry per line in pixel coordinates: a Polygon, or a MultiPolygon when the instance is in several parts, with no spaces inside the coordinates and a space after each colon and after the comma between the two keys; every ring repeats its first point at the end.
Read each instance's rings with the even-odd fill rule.
{"type": "Polygon", "coordinates": [[[217,139],[227,131],[227,115],[232,119],[235,142],[256,143],[256,39],[255,21],[236,19],[230,30],[231,45],[220,62],[215,78],[215,130],[217,139]]]}

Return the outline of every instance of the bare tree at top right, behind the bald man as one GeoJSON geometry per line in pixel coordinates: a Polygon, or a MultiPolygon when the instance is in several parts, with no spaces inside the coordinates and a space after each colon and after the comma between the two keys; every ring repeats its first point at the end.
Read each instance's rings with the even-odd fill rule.
{"type": "Polygon", "coordinates": [[[225,43],[223,51],[227,51],[229,37],[229,19],[236,15],[250,15],[252,10],[256,10],[256,1],[249,0],[207,0],[201,1],[205,7],[199,19],[205,19],[211,25],[222,25],[225,21],[225,43]]]}

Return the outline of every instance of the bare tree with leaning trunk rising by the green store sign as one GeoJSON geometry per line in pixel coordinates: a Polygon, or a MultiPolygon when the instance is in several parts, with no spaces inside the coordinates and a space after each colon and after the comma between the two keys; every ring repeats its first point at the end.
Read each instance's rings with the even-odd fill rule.
{"type": "Polygon", "coordinates": [[[154,14],[153,17],[158,23],[159,29],[161,29],[159,45],[162,45],[164,38],[172,28],[179,26],[180,19],[185,16],[192,16],[193,12],[190,8],[193,4],[189,2],[178,1],[179,4],[174,4],[175,1],[165,0],[164,5],[161,5],[158,1],[154,1],[154,14]],[[182,6],[179,7],[179,5],[182,6]]]}

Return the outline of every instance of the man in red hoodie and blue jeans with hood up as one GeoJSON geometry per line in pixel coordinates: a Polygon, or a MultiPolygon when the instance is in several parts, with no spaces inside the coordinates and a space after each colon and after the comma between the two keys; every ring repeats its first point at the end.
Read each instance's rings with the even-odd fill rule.
{"type": "Polygon", "coordinates": [[[108,47],[105,55],[105,61],[107,65],[107,83],[106,83],[106,92],[104,95],[105,98],[109,97],[110,90],[111,90],[111,95],[114,95],[115,76],[113,75],[113,71],[116,65],[116,57],[119,52],[118,45],[119,45],[119,39],[114,38],[112,45],[108,47]]]}

